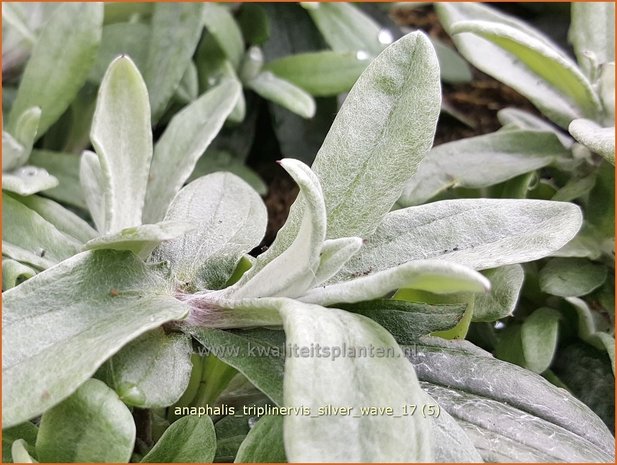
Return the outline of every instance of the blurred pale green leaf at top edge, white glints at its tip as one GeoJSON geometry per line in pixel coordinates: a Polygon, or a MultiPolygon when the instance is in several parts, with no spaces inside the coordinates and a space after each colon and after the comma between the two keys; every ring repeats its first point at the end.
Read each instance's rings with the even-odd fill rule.
{"type": "Polygon", "coordinates": [[[392,41],[379,24],[349,3],[304,3],[319,32],[336,52],[362,51],[377,56],[392,41]],[[383,40],[383,42],[382,42],[383,40]]]}

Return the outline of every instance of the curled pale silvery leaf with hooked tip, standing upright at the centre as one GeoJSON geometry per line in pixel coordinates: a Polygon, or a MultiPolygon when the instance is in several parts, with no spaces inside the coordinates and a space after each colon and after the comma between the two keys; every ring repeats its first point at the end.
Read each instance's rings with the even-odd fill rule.
{"type": "Polygon", "coordinates": [[[298,160],[286,158],[280,164],[300,187],[292,209],[302,209],[304,216],[299,222],[286,223],[272,246],[229,288],[226,295],[234,299],[302,295],[310,288],[319,267],[326,235],[326,207],[319,181],[298,160]]]}

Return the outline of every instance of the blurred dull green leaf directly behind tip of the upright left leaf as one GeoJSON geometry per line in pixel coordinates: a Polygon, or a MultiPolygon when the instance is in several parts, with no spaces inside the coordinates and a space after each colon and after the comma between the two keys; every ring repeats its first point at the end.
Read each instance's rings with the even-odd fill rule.
{"type": "Polygon", "coordinates": [[[111,62],[119,55],[130,56],[135,65],[144,70],[149,43],[150,27],[147,24],[121,22],[104,26],[101,46],[89,80],[100,83],[111,62]]]}

